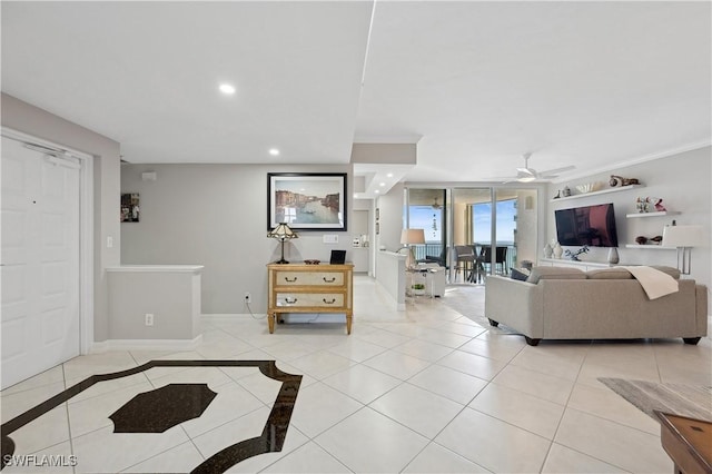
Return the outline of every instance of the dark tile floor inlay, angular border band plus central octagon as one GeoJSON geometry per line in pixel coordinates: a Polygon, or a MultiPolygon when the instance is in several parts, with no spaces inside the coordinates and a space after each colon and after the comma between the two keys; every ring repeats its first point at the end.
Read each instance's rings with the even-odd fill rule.
{"type": "MultiPolygon", "coordinates": [[[[128,377],[152,367],[258,367],[265,376],[281,382],[261,434],[225,446],[195,467],[194,473],[221,473],[249,457],[281,451],[301,384],[301,375],[279,371],[275,361],[150,361],[127,371],[92,375],[3,423],[0,428],[2,435],[0,470],[4,467],[6,458],[14,454],[16,445],[10,437],[13,432],[95,384],[128,377]]],[[[199,417],[216,395],[206,384],[170,384],[137,395],[111,414],[110,418],[115,423],[115,433],[162,433],[187,419],[199,417]],[[150,416],[147,416],[149,413],[150,416]],[[139,417],[147,419],[137,423],[139,417]]]]}

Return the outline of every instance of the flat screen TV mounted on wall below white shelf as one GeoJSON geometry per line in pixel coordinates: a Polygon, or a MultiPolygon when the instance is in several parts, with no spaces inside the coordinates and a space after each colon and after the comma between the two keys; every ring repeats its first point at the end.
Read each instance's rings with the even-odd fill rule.
{"type": "Polygon", "coordinates": [[[617,247],[613,204],[574,207],[554,211],[556,238],[561,245],[617,247]]]}

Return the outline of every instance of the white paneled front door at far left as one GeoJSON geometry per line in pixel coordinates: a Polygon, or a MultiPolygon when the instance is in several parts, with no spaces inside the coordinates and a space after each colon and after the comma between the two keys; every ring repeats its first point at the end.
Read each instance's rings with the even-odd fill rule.
{"type": "Polygon", "coordinates": [[[79,355],[79,169],[2,137],[2,388],[79,355]]]}

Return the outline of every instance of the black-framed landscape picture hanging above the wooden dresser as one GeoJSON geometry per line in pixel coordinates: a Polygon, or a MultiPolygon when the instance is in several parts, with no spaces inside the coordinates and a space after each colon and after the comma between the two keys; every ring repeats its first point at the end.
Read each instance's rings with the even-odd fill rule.
{"type": "Polygon", "coordinates": [[[267,229],[346,230],[345,172],[268,172],[267,229]]]}

